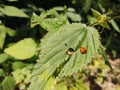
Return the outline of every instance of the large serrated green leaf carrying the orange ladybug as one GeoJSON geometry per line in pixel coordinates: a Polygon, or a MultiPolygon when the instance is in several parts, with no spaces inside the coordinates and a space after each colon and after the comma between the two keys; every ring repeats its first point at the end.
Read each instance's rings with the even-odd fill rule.
{"type": "MultiPolygon", "coordinates": [[[[101,45],[97,30],[81,23],[65,25],[59,28],[58,32],[47,35],[41,40],[40,59],[32,73],[32,83],[42,83],[44,78],[47,80],[53,75],[56,68],[61,68],[58,73],[61,78],[72,75],[91,62],[91,59],[98,54],[101,45]],[[87,52],[80,53],[80,47],[85,47],[87,52]],[[72,55],[66,53],[70,48],[73,49],[72,55]],[[43,75],[45,72],[47,72],[46,76],[43,75]],[[41,75],[44,78],[40,78],[41,75]]],[[[45,83],[46,81],[44,81],[44,85],[45,83]]],[[[42,85],[40,87],[44,87],[42,85]]],[[[31,84],[30,87],[34,87],[34,85],[31,84]]]]}

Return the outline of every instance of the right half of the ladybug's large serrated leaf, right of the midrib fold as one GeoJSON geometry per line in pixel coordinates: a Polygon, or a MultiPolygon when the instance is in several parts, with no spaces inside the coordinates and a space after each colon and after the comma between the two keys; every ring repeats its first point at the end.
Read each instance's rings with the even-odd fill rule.
{"type": "Polygon", "coordinates": [[[76,50],[71,58],[69,58],[69,61],[64,65],[64,69],[61,70],[60,76],[68,76],[81,70],[88,62],[91,62],[92,57],[98,54],[100,40],[97,30],[93,27],[86,27],[85,29],[87,30],[87,35],[85,39],[82,42],[79,41],[78,44],[80,44],[79,47],[85,47],[87,53],[81,54],[79,49],[76,50]]]}

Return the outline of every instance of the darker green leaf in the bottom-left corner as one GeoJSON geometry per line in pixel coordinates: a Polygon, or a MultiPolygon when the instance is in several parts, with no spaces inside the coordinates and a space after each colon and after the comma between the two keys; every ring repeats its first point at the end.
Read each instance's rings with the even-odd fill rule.
{"type": "Polygon", "coordinates": [[[13,77],[6,76],[2,82],[2,90],[14,90],[15,81],[13,77]]]}

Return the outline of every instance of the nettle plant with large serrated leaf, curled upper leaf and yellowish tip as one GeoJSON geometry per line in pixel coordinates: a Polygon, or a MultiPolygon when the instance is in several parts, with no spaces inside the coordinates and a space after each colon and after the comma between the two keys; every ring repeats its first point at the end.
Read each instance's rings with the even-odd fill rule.
{"type": "MultiPolygon", "coordinates": [[[[96,23],[106,27],[107,16],[92,11],[96,17],[91,18],[90,25],[80,22],[70,23],[68,14],[65,12],[59,14],[55,9],[42,12],[40,16],[33,14],[31,27],[39,25],[48,32],[41,39],[39,58],[34,66],[28,90],[55,88],[56,83],[81,71],[99,54],[109,65],[101,45],[100,34],[93,27],[96,23]]],[[[64,85],[59,88],[67,90],[64,85]]]]}

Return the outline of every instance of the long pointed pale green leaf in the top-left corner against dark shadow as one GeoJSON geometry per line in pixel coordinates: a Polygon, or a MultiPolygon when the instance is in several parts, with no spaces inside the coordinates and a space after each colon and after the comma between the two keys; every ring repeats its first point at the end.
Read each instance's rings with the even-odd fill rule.
{"type": "Polygon", "coordinates": [[[0,11],[7,16],[28,18],[27,14],[14,6],[4,5],[3,7],[0,7],[0,11]]]}

